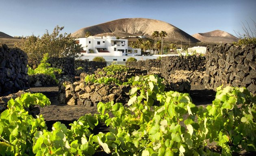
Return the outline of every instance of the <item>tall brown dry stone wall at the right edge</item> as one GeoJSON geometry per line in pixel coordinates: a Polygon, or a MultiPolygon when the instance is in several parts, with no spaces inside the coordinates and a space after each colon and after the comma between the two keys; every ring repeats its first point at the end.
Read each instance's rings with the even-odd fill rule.
{"type": "Polygon", "coordinates": [[[206,49],[204,85],[247,87],[256,93],[256,45],[213,45],[206,49]]]}

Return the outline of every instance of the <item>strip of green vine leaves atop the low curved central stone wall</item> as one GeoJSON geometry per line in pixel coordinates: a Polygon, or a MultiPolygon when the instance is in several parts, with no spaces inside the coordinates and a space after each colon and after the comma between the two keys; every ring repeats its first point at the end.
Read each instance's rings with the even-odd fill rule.
{"type": "Polygon", "coordinates": [[[112,77],[100,77],[100,78],[95,78],[95,75],[87,75],[85,76],[85,82],[93,82],[93,83],[99,83],[99,84],[106,84],[110,85],[112,83],[115,83],[117,85],[121,85],[121,81],[117,80],[117,78],[112,78],[112,77]]]}

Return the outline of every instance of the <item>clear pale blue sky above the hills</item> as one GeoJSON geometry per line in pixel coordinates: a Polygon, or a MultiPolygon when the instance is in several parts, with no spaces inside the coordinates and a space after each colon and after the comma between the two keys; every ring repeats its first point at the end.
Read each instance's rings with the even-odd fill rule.
{"type": "Polygon", "coordinates": [[[0,32],[42,36],[57,25],[62,32],[121,18],[149,18],[172,24],[189,35],[255,28],[256,0],[0,0],[0,32]]]}

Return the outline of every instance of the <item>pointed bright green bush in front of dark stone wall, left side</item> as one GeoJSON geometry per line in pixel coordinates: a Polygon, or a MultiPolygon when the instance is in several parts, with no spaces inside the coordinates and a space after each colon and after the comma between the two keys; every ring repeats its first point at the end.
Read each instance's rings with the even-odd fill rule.
{"type": "Polygon", "coordinates": [[[46,63],[48,59],[48,54],[44,54],[41,63],[37,66],[36,69],[31,69],[30,67],[28,67],[28,75],[46,74],[51,76],[58,83],[54,72],[58,72],[59,74],[61,74],[62,70],[59,68],[50,67],[50,63],[46,63]]]}

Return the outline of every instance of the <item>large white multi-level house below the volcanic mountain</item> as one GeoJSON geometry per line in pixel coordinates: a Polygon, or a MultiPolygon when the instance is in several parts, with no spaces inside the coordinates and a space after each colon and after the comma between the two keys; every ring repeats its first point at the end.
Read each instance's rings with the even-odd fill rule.
{"type": "Polygon", "coordinates": [[[82,45],[83,56],[135,56],[141,55],[141,49],[128,47],[128,39],[117,39],[116,37],[78,38],[76,43],[82,45]]]}

